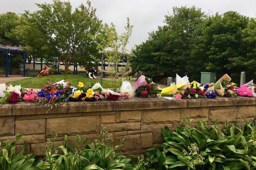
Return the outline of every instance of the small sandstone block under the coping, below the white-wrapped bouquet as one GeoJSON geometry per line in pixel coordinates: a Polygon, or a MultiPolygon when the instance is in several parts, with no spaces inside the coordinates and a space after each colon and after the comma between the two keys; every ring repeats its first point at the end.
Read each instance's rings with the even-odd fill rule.
{"type": "Polygon", "coordinates": [[[132,111],[116,111],[116,122],[140,122],[141,111],[132,110],[132,111]]]}

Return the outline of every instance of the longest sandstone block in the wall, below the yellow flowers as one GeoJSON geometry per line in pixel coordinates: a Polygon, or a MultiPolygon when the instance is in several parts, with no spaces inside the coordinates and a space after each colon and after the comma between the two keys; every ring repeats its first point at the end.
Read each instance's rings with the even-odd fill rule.
{"type": "Polygon", "coordinates": [[[55,131],[59,136],[99,133],[99,116],[79,116],[46,119],[46,135],[55,131]]]}

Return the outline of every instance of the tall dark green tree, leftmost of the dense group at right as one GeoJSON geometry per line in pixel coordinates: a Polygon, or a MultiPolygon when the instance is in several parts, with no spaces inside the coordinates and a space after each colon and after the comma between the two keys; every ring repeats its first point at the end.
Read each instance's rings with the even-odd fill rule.
{"type": "MultiPolygon", "coordinates": [[[[192,68],[189,67],[192,60],[190,56],[193,43],[201,35],[199,30],[203,27],[204,18],[205,15],[201,12],[201,9],[194,6],[191,8],[173,7],[173,14],[165,16],[164,22],[166,25],[158,27],[157,31],[149,34],[152,48],[147,53],[149,55],[144,57],[152,57],[152,59],[151,62],[146,58],[140,59],[142,62],[140,65],[144,65],[143,72],[194,75],[195,72],[192,72],[192,68]],[[152,67],[152,64],[155,67],[152,67]],[[149,67],[146,68],[146,65],[149,65],[149,67]]],[[[137,52],[134,52],[138,54],[140,47],[144,48],[146,46],[144,44],[137,46],[137,52]]],[[[143,55],[140,57],[143,57],[143,55]]]]}

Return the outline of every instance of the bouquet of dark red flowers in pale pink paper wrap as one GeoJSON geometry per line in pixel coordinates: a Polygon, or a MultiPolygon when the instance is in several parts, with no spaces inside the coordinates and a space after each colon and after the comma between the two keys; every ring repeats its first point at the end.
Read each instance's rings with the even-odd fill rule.
{"type": "Polygon", "coordinates": [[[141,75],[139,79],[136,82],[135,86],[135,93],[139,95],[140,97],[149,97],[149,98],[155,98],[155,97],[161,97],[160,88],[157,84],[152,82],[152,78],[149,79],[148,77],[145,77],[141,75]],[[144,80],[143,80],[144,78],[144,80]]]}

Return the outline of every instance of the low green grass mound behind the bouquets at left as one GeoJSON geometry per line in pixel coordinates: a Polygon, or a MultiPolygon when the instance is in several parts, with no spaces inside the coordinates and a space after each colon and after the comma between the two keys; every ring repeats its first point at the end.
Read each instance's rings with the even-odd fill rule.
{"type": "MultiPolygon", "coordinates": [[[[26,87],[26,88],[43,88],[45,83],[50,81],[50,83],[55,83],[60,80],[66,80],[67,82],[70,83],[71,86],[74,86],[78,88],[79,82],[82,82],[85,87],[88,85],[91,85],[91,83],[96,83],[100,79],[89,79],[86,76],[80,76],[80,75],[51,75],[51,76],[43,76],[43,77],[30,77],[30,78],[25,78],[21,80],[16,80],[12,82],[7,82],[5,83],[6,85],[9,85],[10,83],[12,85],[21,85],[21,87],[26,87]]],[[[108,85],[107,80],[102,80],[102,87],[103,88],[109,88],[110,85],[108,85]]]]}

